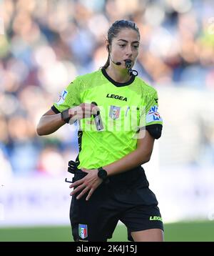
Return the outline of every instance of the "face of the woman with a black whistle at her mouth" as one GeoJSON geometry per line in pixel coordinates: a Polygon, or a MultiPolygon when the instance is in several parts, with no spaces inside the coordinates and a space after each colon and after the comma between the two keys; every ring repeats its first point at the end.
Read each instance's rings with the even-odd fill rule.
{"type": "Polygon", "coordinates": [[[121,29],[111,44],[111,58],[113,61],[121,62],[121,68],[126,69],[125,60],[131,59],[131,67],[135,64],[138,56],[140,39],[138,33],[133,29],[121,29]]]}

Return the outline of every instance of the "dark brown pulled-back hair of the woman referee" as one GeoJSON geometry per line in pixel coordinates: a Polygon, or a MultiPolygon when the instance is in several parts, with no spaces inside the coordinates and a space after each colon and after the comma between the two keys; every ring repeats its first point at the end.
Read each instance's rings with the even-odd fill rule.
{"type": "Polygon", "coordinates": [[[122,19],[121,21],[115,21],[108,29],[108,59],[106,61],[106,64],[103,66],[104,69],[106,69],[110,64],[110,46],[112,40],[118,35],[121,29],[133,29],[138,33],[138,36],[140,37],[139,29],[133,21],[126,21],[124,19],[122,19]]]}

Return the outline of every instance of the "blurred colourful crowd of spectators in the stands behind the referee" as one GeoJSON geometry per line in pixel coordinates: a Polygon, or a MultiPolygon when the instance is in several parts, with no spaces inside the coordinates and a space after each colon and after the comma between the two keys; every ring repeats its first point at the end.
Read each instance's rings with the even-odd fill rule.
{"type": "Polygon", "coordinates": [[[38,137],[35,127],[69,82],[106,63],[118,19],[138,25],[146,82],[214,90],[213,10],[213,0],[0,1],[1,172],[58,174],[75,159],[76,129],[38,137]]]}

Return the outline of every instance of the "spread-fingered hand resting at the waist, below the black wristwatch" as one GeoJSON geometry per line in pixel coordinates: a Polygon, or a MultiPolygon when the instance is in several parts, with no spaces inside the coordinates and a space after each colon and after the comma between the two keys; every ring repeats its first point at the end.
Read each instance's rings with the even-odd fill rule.
{"type": "Polygon", "coordinates": [[[81,193],[76,197],[76,199],[80,199],[81,197],[83,197],[83,195],[86,194],[86,192],[88,192],[88,195],[86,197],[86,200],[88,201],[91,197],[91,195],[93,194],[93,192],[95,191],[95,189],[103,182],[103,179],[98,177],[98,169],[85,169],[82,168],[81,169],[83,172],[87,172],[88,174],[86,175],[86,177],[83,177],[83,179],[79,179],[76,182],[73,182],[69,187],[76,187],[75,189],[73,189],[73,191],[71,192],[70,195],[75,195],[76,192],[81,191],[81,193]]]}

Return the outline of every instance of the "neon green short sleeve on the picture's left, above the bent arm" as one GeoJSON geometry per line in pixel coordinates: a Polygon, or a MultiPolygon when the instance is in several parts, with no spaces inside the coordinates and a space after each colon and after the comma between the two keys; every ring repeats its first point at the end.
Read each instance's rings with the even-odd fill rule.
{"type": "Polygon", "coordinates": [[[62,112],[65,109],[78,106],[81,104],[78,81],[74,80],[68,87],[61,92],[58,97],[58,101],[54,103],[51,109],[54,112],[62,112]]]}

